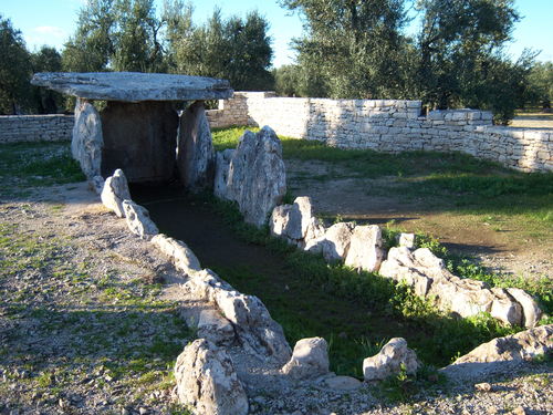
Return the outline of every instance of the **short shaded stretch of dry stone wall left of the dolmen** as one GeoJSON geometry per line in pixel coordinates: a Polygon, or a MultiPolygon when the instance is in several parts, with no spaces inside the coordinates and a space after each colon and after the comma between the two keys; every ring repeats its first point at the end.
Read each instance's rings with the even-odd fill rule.
{"type": "Polygon", "coordinates": [[[73,115],[0,116],[0,143],[70,141],[73,115]]]}

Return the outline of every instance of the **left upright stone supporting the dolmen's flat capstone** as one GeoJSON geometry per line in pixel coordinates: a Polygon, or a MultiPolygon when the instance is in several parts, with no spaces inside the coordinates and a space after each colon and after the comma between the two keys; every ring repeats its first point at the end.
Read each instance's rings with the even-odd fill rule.
{"type": "Polygon", "coordinates": [[[88,179],[100,176],[103,146],[102,122],[98,112],[91,103],[76,100],[71,153],[88,179]]]}

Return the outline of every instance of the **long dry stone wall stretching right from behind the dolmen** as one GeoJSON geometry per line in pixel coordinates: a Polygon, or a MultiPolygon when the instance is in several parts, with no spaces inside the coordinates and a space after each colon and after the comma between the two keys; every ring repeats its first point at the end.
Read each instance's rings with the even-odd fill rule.
{"type": "Polygon", "coordinates": [[[420,101],[278,97],[237,92],[208,112],[211,126],[271,125],[276,134],[341,148],[461,152],[524,172],[553,170],[553,131],[492,125],[486,111],[434,111],[420,101]]]}

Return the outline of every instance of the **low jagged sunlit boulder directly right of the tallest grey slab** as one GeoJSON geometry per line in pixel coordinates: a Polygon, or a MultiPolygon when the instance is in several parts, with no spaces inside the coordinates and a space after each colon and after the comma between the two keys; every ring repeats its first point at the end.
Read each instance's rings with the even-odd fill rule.
{"type": "Polygon", "coordinates": [[[269,227],[271,235],[284,238],[300,248],[324,234],[324,226],[314,217],[311,198],[307,196],[296,197],[293,205],[276,206],[269,227]]]}

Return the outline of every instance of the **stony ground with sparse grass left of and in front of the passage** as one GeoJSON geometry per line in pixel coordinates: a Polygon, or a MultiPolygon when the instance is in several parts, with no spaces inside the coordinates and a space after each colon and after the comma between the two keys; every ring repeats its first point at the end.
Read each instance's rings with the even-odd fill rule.
{"type": "MultiPolygon", "coordinates": [[[[0,261],[0,414],[188,413],[171,393],[175,360],[195,336],[179,318],[176,271],[84,184],[1,200],[0,261]]],[[[525,363],[437,382],[408,403],[397,400],[415,385],[401,380],[247,391],[252,414],[551,414],[552,377],[551,363],[525,363]]]]}

